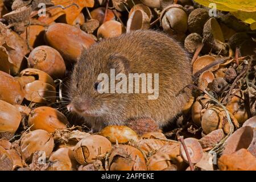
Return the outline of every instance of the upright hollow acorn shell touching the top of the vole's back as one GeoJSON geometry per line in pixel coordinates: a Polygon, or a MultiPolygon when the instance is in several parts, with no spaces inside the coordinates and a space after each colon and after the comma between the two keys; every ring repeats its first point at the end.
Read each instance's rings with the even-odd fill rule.
{"type": "Polygon", "coordinates": [[[127,32],[150,28],[150,18],[143,10],[134,10],[127,20],[127,32]]]}

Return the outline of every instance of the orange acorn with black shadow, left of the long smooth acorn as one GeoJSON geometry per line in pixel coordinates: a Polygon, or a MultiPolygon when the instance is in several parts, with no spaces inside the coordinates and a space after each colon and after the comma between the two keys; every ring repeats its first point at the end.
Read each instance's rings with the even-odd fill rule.
{"type": "Polygon", "coordinates": [[[28,44],[31,48],[35,48],[38,46],[42,46],[44,44],[44,32],[46,28],[40,25],[31,25],[30,27],[26,27],[26,31],[24,31],[20,36],[24,40],[28,40],[28,44]],[[29,32],[29,36],[28,36],[29,32]]]}

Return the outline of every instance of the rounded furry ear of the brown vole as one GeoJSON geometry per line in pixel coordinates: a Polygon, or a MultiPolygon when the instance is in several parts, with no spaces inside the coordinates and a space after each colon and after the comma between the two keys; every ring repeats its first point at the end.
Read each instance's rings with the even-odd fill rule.
{"type": "Polygon", "coordinates": [[[119,53],[109,56],[108,66],[110,69],[115,69],[115,73],[129,73],[130,71],[129,60],[119,53]]]}

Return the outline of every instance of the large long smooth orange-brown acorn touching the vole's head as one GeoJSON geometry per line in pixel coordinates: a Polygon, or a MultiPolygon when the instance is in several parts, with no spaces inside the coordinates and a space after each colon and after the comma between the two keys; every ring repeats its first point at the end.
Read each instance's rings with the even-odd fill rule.
{"type": "Polygon", "coordinates": [[[45,38],[49,46],[59,51],[69,63],[76,62],[82,50],[89,48],[95,42],[84,31],[64,23],[50,25],[46,30],[45,38]]]}

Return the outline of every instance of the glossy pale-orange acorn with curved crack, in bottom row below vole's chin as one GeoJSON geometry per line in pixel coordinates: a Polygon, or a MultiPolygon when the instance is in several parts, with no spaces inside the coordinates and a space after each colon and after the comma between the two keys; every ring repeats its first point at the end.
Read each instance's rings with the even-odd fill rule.
{"type": "Polygon", "coordinates": [[[75,146],[74,155],[80,164],[86,164],[98,155],[108,153],[112,148],[111,143],[101,135],[90,135],[81,139],[75,146]]]}

